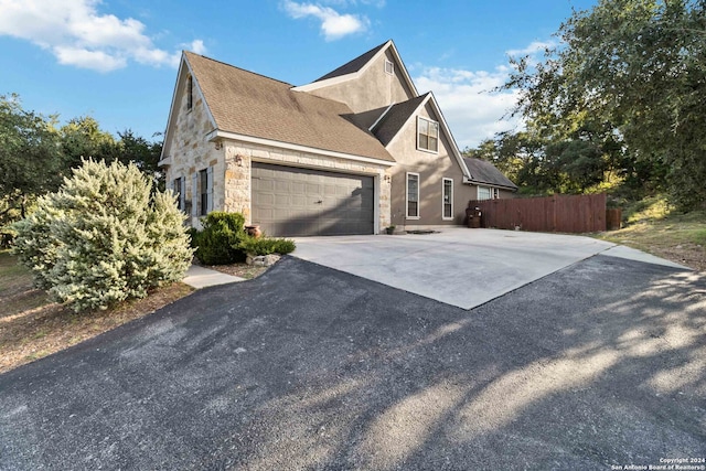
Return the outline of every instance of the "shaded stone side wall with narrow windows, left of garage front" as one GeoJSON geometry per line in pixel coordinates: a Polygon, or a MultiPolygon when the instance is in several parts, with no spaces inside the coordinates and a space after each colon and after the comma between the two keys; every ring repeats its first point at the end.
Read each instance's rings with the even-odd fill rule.
{"type": "MultiPolygon", "coordinates": [[[[186,81],[183,82],[181,86],[185,87],[186,81]]],[[[197,92],[196,84],[194,84],[193,95],[193,106],[189,110],[186,109],[186,94],[180,94],[179,113],[171,138],[170,157],[172,162],[167,171],[167,182],[168,185],[171,185],[174,179],[186,179],[185,200],[189,221],[192,226],[200,227],[200,216],[192,216],[192,203],[197,201],[193,194],[192,175],[213,167],[213,208],[215,211],[222,210],[225,197],[225,152],[222,146],[218,147],[205,138],[213,130],[213,125],[208,119],[203,97],[197,92]]]]}

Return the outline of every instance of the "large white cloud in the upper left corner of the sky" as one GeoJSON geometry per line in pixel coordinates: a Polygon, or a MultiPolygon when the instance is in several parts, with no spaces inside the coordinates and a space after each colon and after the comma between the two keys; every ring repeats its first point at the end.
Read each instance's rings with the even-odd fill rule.
{"type": "MultiPolygon", "coordinates": [[[[110,72],[128,60],[151,66],[179,63],[179,52],[157,47],[138,20],[100,14],[100,0],[0,0],[0,35],[51,51],[60,64],[110,72]]],[[[203,52],[200,40],[191,49],[203,52]]],[[[200,52],[200,53],[201,53],[200,52]]]]}

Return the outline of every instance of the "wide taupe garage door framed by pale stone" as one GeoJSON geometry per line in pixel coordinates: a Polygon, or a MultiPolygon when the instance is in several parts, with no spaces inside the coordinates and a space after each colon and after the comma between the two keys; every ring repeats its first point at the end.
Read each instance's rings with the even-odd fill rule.
{"type": "Polygon", "coordinates": [[[373,176],[253,162],[253,223],[271,236],[373,234],[373,176]]]}

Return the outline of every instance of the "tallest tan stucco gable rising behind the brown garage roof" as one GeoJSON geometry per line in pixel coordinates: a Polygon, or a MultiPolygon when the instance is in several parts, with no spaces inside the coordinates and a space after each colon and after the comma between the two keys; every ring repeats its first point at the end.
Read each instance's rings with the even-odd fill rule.
{"type": "Polygon", "coordinates": [[[295,90],[345,103],[355,114],[418,96],[392,41],[295,90]],[[386,72],[386,61],[392,64],[392,74],[386,72]]]}

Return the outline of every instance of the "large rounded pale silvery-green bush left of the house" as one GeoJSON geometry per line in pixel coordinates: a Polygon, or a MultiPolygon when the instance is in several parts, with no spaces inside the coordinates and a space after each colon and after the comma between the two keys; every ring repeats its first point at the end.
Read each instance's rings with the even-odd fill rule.
{"type": "Polygon", "coordinates": [[[40,287],[76,311],[105,309],[183,278],[191,258],[171,193],[140,170],[93,160],[14,225],[14,253],[40,287]]]}

